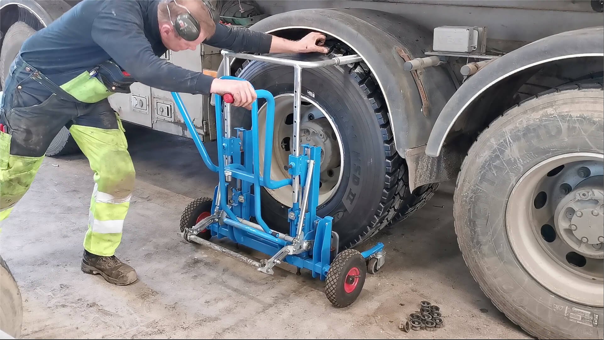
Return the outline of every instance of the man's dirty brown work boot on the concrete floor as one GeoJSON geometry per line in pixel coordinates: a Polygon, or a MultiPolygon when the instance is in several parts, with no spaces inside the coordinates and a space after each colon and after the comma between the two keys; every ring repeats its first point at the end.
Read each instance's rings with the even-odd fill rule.
{"type": "Polygon", "coordinates": [[[115,255],[99,256],[86,250],[82,257],[82,271],[86,274],[101,274],[107,282],[118,286],[137,280],[137,272],[134,268],[120,261],[115,255]]]}

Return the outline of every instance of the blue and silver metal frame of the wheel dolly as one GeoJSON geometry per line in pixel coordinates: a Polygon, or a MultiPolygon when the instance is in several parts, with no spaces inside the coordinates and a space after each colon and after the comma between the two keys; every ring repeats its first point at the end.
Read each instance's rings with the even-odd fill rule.
{"type": "MultiPolygon", "coordinates": [[[[338,235],[332,232],[332,217],[316,216],[321,148],[300,144],[302,69],[354,63],[360,61],[361,57],[355,54],[318,62],[300,62],[225,50],[222,51],[222,55],[223,65],[230,65],[231,58],[240,58],[294,67],[294,149],[289,156],[291,178],[281,181],[271,179],[275,100],[270,92],[263,89],[255,90],[257,98],[266,100],[266,150],[263,176],[260,176],[258,100],[252,103],[251,130],[237,127],[235,129],[237,131],[236,136],[232,136],[231,104],[223,103],[220,95],[214,95],[218,146],[218,164],[216,165],[211,161],[201,138],[196,133],[182,98],[178,93],[172,92],[176,106],[191,132],[202,159],[210,170],[219,174],[219,184],[214,191],[212,207],[214,214],[201,220],[193,228],[185,230],[182,236],[188,241],[207,245],[223,252],[223,254],[255,266],[259,271],[266,274],[273,274],[272,267],[285,261],[297,266],[298,269],[309,269],[312,271],[313,277],[320,277],[321,280],[325,280],[330,264],[336,255],[332,248],[334,240],[336,242],[338,240],[338,235]],[[223,104],[225,105],[224,111],[223,104]],[[236,179],[235,187],[230,184],[233,179],[236,179]],[[276,189],[286,185],[292,185],[292,198],[294,199],[294,204],[288,211],[289,235],[278,233],[269,228],[260,213],[260,187],[276,189]],[[252,217],[255,218],[257,223],[251,222],[252,217]],[[205,229],[207,229],[206,232],[210,232],[212,237],[218,239],[227,237],[237,244],[249,246],[272,257],[268,260],[256,261],[237,254],[230,249],[199,237],[199,233],[205,229]]],[[[245,79],[232,77],[228,69],[225,70],[224,74],[221,79],[246,81],[245,79]]],[[[378,258],[381,266],[384,263],[384,244],[377,243],[373,248],[361,254],[365,260],[378,258]]]]}

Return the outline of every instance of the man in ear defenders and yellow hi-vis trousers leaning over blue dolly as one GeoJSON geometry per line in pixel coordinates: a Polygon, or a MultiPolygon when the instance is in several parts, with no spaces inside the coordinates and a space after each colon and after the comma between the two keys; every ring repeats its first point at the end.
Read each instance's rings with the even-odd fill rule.
{"type": "Polygon", "coordinates": [[[216,24],[202,1],[85,0],[26,40],[10,67],[0,123],[0,220],[27,192],[45,150],[63,126],[89,160],[94,190],[83,242],[82,271],[113,284],[137,280],[115,257],[135,171],[120,118],[107,97],[132,82],[190,94],[231,93],[251,108],[248,82],[215,79],[159,56],[204,42],[253,53],[326,53],[325,37],[298,41],[216,24]]]}

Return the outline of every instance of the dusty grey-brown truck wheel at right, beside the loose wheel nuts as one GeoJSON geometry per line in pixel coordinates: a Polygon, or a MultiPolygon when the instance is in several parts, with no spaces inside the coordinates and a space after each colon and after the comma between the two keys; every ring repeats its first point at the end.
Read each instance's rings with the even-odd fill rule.
{"type": "Polygon", "coordinates": [[[493,304],[540,339],[602,339],[602,84],[522,101],[472,145],[455,232],[493,304]]]}

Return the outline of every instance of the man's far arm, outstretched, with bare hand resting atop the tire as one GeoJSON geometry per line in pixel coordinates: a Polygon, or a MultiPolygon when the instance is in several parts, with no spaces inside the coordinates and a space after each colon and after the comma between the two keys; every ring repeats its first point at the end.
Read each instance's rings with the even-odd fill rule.
{"type": "Polygon", "coordinates": [[[324,43],[325,36],[309,33],[301,40],[288,40],[248,28],[231,25],[216,25],[216,33],[204,41],[205,44],[235,52],[252,53],[327,53],[326,47],[316,45],[324,43]]]}

